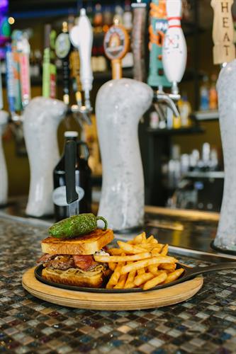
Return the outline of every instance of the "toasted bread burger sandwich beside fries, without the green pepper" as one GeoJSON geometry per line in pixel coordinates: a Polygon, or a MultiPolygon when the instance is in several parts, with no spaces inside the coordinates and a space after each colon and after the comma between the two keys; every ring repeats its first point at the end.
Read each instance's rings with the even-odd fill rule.
{"type": "MultiPolygon", "coordinates": [[[[106,254],[113,240],[111,229],[95,229],[71,239],[47,237],[41,242],[42,276],[45,280],[79,287],[101,287],[110,273],[106,263],[94,261],[94,254],[106,254]]],[[[108,253],[107,253],[108,254],[108,253]]]]}

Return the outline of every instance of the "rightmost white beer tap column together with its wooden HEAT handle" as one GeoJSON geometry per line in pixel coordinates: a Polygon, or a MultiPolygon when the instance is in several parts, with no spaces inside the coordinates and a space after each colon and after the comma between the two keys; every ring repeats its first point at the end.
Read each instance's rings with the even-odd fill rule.
{"type": "Polygon", "coordinates": [[[232,0],[211,1],[214,9],[214,63],[228,63],[221,69],[217,82],[225,181],[220,222],[213,243],[218,249],[226,252],[236,251],[236,60],[232,2],[232,0]]]}

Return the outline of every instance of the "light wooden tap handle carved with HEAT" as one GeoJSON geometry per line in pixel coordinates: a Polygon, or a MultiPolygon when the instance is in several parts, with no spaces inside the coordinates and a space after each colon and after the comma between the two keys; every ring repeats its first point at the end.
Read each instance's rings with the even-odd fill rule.
{"type": "Polygon", "coordinates": [[[213,62],[223,64],[235,59],[234,26],[232,22],[233,0],[211,0],[213,20],[213,62]]]}

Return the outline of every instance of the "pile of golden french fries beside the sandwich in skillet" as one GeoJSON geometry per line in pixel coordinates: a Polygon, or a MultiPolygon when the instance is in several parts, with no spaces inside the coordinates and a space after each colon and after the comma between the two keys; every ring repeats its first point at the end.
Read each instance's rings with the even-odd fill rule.
{"type": "Polygon", "coordinates": [[[167,256],[168,244],[159,244],[145,232],[133,240],[118,241],[118,249],[108,249],[110,256],[94,256],[95,261],[108,263],[113,273],[107,289],[142,287],[149,290],[178,279],[184,268],[176,269],[176,258],[167,256]]]}

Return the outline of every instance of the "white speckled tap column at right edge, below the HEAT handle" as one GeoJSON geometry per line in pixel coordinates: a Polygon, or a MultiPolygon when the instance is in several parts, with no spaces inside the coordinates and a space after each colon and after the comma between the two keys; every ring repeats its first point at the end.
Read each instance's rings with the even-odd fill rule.
{"type": "Polygon", "coordinates": [[[215,246],[236,251],[236,60],[220,72],[217,83],[225,182],[215,246]]]}

